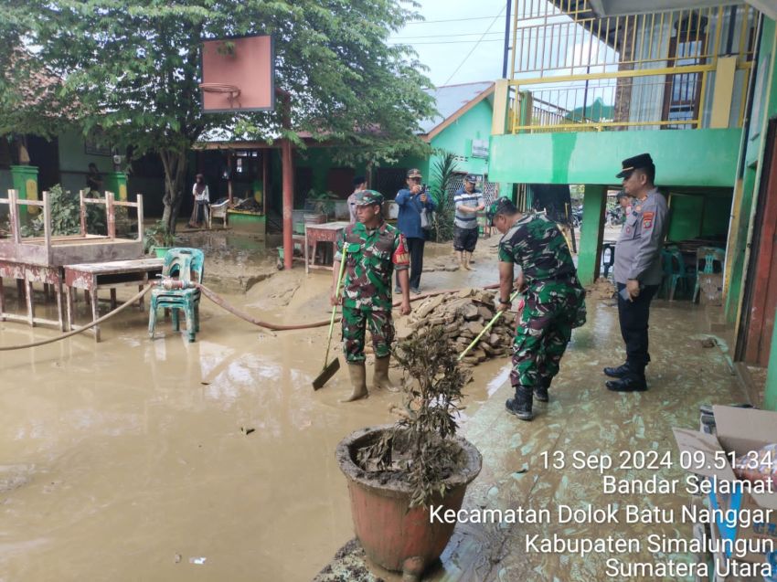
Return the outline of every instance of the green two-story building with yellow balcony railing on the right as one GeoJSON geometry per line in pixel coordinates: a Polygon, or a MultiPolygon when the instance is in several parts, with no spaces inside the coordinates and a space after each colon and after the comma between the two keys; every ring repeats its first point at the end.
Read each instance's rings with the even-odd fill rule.
{"type": "MultiPolygon", "coordinates": [[[[777,5],[551,0],[512,5],[489,175],[585,185],[579,272],[599,273],[606,192],[651,153],[669,241],[725,250],[734,360],[768,366],[777,409],[777,5]]],[[[761,405],[761,402],[755,402],[761,405]]]]}

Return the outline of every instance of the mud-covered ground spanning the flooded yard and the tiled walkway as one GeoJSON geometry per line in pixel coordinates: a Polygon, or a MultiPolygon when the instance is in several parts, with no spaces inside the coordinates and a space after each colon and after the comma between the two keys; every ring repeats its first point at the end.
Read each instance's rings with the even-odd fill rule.
{"type": "MultiPolygon", "coordinates": [[[[426,272],[421,287],[495,282],[494,244],[481,241],[473,273],[426,272]]],[[[254,276],[268,260],[249,253],[239,275],[254,276]]],[[[430,249],[431,268],[448,262],[446,248],[430,249]]],[[[229,302],[257,318],[328,316],[328,272],[283,271],[241,294],[230,292],[229,278],[219,280],[212,261],[206,269],[206,284],[210,272],[229,302]]],[[[100,344],[80,335],[0,353],[0,580],[302,581],[353,536],[335,445],[354,429],[390,421],[399,396],[375,392],[340,404],[345,370],[314,392],[325,328],[271,336],[203,301],[194,344],[169,323],[150,341],[147,313],[130,310],[103,326],[100,344]]],[[[575,332],[552,400],[532,423],[504,410],[507,360],[475,368],[463,429],[483,452],[484,471],[468,506],[593,503],[593,475],[543,471],[538,455],[671,449],[671,427],[693,427],[700,403],[742,398],[721,350],[700,346],[701,309],[656,302],[651,323],[650,391],[612,394],[601,366],[623,354],[617,314],[590,302],[590,322],[575,332]]],[[[0,323],[0,344],[53,333],[0,323]]],[[[457,528],[433,576],[604,579],[595,557],[527,555],[519,547],[526,527],[457,528]]]]}

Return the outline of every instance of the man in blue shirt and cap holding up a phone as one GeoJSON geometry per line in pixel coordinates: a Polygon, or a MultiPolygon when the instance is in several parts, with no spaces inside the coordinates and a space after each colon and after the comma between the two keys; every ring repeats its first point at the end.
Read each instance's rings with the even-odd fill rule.
{"type": "MultiPolygon", "coordinates": [[[[397,193],[395,201],[399,206],[397,228],[408,239],[410,250],[410,291],[420,293],[420,272],[423,270],[423,245],[426,233],[421,225],[421,211],[425,212],[427,223],[435,208],[431,195],[420,185],[421,175],[417,168],[408,171],[407,188],[397,193]]],[[[399,292],[399,279],[395,292],[399,292]]]]}

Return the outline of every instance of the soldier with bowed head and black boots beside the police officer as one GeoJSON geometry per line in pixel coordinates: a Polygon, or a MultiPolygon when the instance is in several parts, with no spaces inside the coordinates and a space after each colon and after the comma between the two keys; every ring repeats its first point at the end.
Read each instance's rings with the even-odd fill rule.
{"type": "Polygon", "coordinates": [[[507,198],[496,200],[488,217],[503,235],[499,242],[499,309],[510,308],[514,284],[526,299],[516,323],[510,373],[516,397],[507,400],[506,407],[516,417],[531,420],[533,396],[548,402],[548,388],[559,373],[572,329],[585,323],[585,291],[555,222],[540,214],[522,215],[507,198]],[[515,281],[514,265],[521,268],[515,281]]]}

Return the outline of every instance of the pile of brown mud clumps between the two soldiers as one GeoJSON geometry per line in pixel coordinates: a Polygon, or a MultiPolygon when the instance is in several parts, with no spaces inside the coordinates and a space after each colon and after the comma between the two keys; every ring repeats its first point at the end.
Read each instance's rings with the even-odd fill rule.
{"type": "MultiPolygon", "coordinates": [[[[413,308],[399,339],[423,337],[432,327],[442,326],[450,349],[461,354],[495,314],[495,291],[463,289],[436,295],[413,308]]],[[[478,365],[512,354],[515,323],[516,312],[505,312],[463,358],[462,365],[478,365]]]]}

